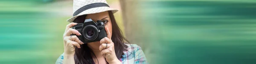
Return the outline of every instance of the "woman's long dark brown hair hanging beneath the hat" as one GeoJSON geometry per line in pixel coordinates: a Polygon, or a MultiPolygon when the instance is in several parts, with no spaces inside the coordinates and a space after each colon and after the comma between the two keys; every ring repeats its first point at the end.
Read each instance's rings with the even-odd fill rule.
{"type": "MultiPolygon", "coordinates": [[[[116,57],[122,58],[122,55],[124,55],[123,51],[127,51],[127,45],[128,41],[124,38],[122,35],[122,32],[119,28],[119,26],[116,23],[115,17],[111,11],[108,11],[109,17],[111,19],[112,23],[112,41],[115,44],[115,52],[116,57]],[[126,42],[126,43],[125,43],[126,42]]],[[[84,23],[86,15],[82,15],[77,17],[73,22],[74,23],[84,23]]],[[[93,61],[93,56],[95,54],[93,51],[87,46],[87,44],[81,45],[81,48],[75,48],[75,63],[76,64],[95,64],[93,61]]]]}

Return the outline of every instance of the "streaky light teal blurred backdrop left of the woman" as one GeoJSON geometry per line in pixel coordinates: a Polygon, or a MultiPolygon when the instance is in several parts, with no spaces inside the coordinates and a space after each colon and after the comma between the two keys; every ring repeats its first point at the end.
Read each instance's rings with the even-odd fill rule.
{"type": "Polygon", "coordinates": [[[67,24],[67,17],[55,13],[60,6],[51,0],[0,0],[0,64],[54,64],[67,24]]]}

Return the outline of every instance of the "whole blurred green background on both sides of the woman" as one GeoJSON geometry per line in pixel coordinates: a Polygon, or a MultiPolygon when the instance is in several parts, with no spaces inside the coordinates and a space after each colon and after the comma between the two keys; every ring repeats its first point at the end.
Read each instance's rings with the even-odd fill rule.
{"type": "MultiPolygon", "coordinates": [[[[119,0],[107,1],[120,9],[119,0]]],[[[0,64],[55,64],[72,5],[0,0],[0,64]]],[[[124,31],[132,26],[123,26],[121,12],[124,31]]],[[[256,64],[256,0],[139,0],[133,12],[143,35],[133,44],[150,64],[256,64]]]]}

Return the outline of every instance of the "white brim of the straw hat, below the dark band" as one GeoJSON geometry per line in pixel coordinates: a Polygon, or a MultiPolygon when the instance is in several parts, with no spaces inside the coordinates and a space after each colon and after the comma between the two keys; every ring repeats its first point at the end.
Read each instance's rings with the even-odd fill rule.
{"type": "Polygon", "coordinates": [[[91,9],[87,9],[81,13],[79,13],[78,15],[76,16],[73,16],[71,17],[70,19],[68,19],[67,21],[68,22],[73,22],[76,17],[79,17],[81,15],[88,15],[88,14],[94,14],[94,13],[100,13],[100,12],[105,12],[105,11],[112,11],[113,13],[116,13],[118,10],[117,9],[113,9],[113,8],[110,8],[110,7],[96,7],[96,8],[91,8],[91,9]]]}

